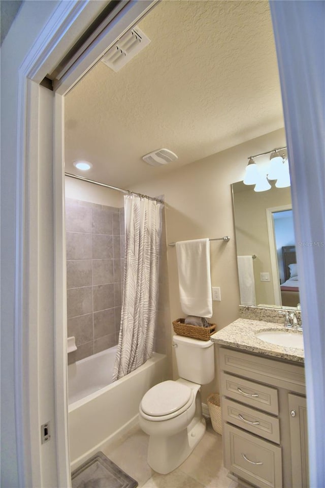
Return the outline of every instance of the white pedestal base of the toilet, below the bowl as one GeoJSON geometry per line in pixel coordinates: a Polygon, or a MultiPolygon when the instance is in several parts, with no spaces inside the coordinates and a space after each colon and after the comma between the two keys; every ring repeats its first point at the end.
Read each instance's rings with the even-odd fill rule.
{"type": "Polygon", "coordinates": [[[160,474],[168,474],[192,452],[201,441],[206,430],[204,417],[194,416],[186,429],[170,437],[153,436],[149,438],[148,464],[160,474]]]}

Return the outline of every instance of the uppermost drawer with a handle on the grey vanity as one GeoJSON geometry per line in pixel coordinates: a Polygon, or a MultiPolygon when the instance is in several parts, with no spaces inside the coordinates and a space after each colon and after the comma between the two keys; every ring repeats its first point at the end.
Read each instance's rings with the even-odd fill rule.
{"type": "Polygon", "coordinates": [[[279,412],[278,390],[254,381],[221,372],[222,395],[277,415],[279,412]]]}

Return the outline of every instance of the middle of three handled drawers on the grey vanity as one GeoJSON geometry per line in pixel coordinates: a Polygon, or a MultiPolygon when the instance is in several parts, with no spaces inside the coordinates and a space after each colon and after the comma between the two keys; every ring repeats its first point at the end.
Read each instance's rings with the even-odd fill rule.
{"type": "Polygon", "coordinates": [[[257,436],[264,437],[269,441],[280,443],[279,419],[267,413],[260,412],[251,407],[246,407],[233,400],[222,397],[221,400],[222,418],[257,436]]]}

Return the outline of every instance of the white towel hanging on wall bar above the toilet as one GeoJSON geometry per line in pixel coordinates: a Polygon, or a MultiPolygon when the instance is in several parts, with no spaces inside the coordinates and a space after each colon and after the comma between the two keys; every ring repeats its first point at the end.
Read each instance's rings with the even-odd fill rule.
{"type": "Polygon", "coordinates": [[[176,242],[176,256],[182,311],[212,317],[209,239],[176,242]]]}

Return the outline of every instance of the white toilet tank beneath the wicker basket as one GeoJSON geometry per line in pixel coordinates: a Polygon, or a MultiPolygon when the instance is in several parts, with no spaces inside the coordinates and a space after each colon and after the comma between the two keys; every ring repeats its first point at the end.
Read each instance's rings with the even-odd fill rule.
{"type": "Polygon", "coordinates": [[[206,385],[214,378],[214,344],[173,335],[177,369],[180,378],[206,385]]]}

